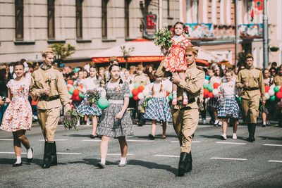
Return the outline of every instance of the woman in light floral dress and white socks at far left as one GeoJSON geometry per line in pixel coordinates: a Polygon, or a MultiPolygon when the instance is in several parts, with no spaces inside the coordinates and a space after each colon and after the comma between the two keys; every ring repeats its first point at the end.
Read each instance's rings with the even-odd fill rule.
{"type": "MultiPolygon", "coordinates": [[[[13,147],[17,157],[17,161],[13,166],[23,165],[21,161],[21,144],[27,149],[27,162],[30,163],[33,158],[30,142],[25,137],[25,131],[31,128],[32,109],[28,101],[30,77],[25,77],[24,69],[23,63],[16,62],[13,65],[16,78],[10,80],[7,84],[8,98],[6,103],[10,104],[4,113],[0,127],[2,130],[13,132],[13,147]]],[[[34,97],[32,96],[32,98],[34,97]]]]}

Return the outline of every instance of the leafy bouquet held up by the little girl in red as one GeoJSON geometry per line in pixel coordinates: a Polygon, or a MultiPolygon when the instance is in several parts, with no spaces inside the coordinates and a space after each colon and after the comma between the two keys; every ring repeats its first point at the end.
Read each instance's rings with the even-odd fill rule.
{"type": "Polygon", "coordinates": [[[156,39],[154,39],[154,44],[156,46],[161,46],[161,49],[172,47],[173,42],[171,41],[171,31],[168,30],[167,25],[156,33],[156,39]]]}

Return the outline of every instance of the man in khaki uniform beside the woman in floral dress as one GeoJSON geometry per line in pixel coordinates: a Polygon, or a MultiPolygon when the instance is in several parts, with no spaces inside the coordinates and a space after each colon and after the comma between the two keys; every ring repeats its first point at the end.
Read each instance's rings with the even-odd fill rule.
{"type": "Polygon", "coordinates": [[[51,48],[44,49],[42,58],[42,65],[32,73],[30,91],[39,98],[38,119],[45,139],[42,168],[49,168],[50,165],[57,165],[54,136],[59,122],[61,104],[65,111],[70,110],[71,106],[63,75],[52,65],[54,51],[51,48]]]}

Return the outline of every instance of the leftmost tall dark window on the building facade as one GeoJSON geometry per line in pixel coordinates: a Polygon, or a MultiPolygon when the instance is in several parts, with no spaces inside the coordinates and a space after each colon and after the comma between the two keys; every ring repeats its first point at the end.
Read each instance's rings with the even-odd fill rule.
{"type": "Polygon", "coordinates": [[[23,0],[15,1],[16,39],[23,40],[23,0]]]}

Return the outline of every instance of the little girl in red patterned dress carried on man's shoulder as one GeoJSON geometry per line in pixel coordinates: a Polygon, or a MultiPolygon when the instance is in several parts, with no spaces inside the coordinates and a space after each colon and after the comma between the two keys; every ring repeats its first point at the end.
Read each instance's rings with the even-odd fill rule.
{"type": "MultiPolygon", "coordinates": [[[[166,58],[164,59],[164,68],[166,71],[170,71],[173,75],[178,73],[181,79],[184,79],[184,72],[187,69],[185,63],[185,49],[188,45],[192,45],[190,40],[185,37],[188,35],[188,27],[184,23],[177,22],[171,28],[172,38],[171,46],[164,46],[167,51],[164,52],[166,58]],[[169,48],[168,48],[169,47],[169,48]]],[[[177,85],[173,84],[173,99],[172,104],[177,103],[177,85]]],[[[187,92],[183,91],[183,104],[188,104],[187,92]]]]}

